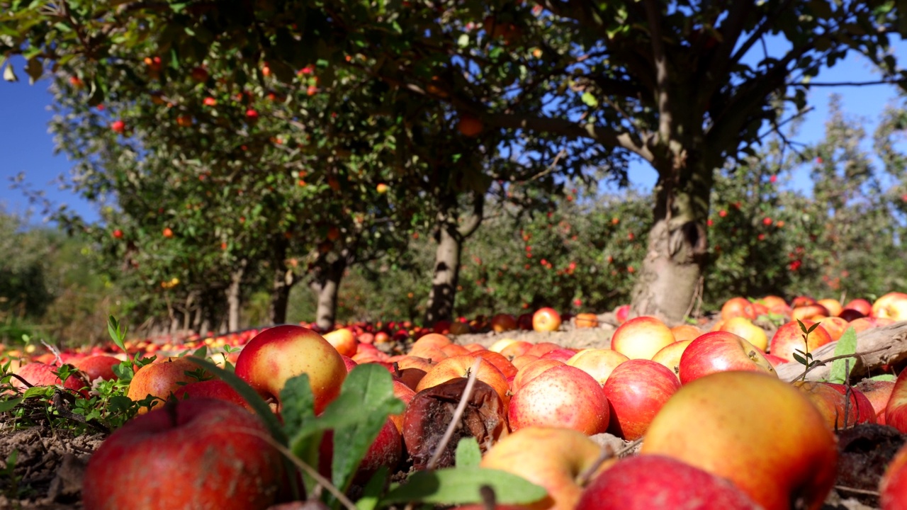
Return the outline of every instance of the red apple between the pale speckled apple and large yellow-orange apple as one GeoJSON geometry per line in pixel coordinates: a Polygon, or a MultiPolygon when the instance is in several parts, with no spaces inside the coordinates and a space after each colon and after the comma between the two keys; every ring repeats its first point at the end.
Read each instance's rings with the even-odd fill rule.
{"type": "Polygon", "coordinates": [[[610,405],[608,431],[628,441],[639,439],[679,388],[674,372],[655,361],[630,359],[621,363],[602,387],[610,405]]]}

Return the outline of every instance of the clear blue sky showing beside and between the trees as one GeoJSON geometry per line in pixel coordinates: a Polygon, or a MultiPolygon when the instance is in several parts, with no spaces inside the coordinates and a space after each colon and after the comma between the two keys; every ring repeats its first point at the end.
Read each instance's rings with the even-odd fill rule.
{"type": "MultiPolygon", "coordinates": [[[[898,44],[897,56],[907,62],[907,44],[898,44]]],[[[40,208],[30,205],[22,191],[11,187],[11,179],[24,172],[25,183],[33,190],[44,191],[56,204],[65,203],[83,214],[89,221],[98,218],[93,204],[83,201],[68,191],[61,191],[54,183],[71,168],[65,156],[54,156],[53,137],[47,132],[51,118],[48,105],[52,96],[47,92],[49,82],[28,84],[27,75],[21,72],[23,61],[14,60],[20,82],[0,83],[0,208],[24,215],[32,212],[32,221],[42,221],[40,208]]],[[[815,82],[855,82],[877,78],[870,64],[856,54],[832,69],[824,70],[815,82]]],[[[829,95],[839,93],[844,98],[844,112],[860,115],[865,119],[868,133],[872,133],[877,118],[886,104],[899,102],[897,91],[891,85],[866,87],[817,87],[810,93],[809,101],[815,107],[803,125],[797,142],[816,142],[823,137],[824,121],[829,95]]],[[[650,189],[655,173],[648,165],[636,165],[631,181],[641,189],[650,189]]],[[[798,176],[795,186],[806,187],[808,177],[798,176]]]]}

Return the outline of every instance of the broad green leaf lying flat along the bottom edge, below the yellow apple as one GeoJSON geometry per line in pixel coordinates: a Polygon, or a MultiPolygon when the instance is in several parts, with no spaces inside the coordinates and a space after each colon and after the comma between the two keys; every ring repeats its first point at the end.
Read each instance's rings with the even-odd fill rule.
{"type": "Polygon", "coordinates": [[[428,503],[465,505],[482,502],[483,486],[491,487],[499,505],[526,505],[548,495],[539,485],[522,476],[500,469],[453,467],[435,471],[417,471],[405,485],[392,488],[382,505],[395,503],[428,503]]]}

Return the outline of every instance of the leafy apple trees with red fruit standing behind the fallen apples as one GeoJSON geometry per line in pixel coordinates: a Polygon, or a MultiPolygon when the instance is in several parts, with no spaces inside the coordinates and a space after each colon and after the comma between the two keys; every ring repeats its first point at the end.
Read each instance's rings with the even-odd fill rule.
{"type": "MultiPolygon", "coordinates": [[[[572,242],[563,230],[580,228],[563,220],[537,232],[560,241],[551,254],[522,253],[544,258],[538,282],[556,295],[506,284],[484,292],[502,292],[502,303],[519,295],[521,306],[585,296],[604,304],[620,288],[609,277],[625,272],[634,313],[678,322],[720,287],[717,252],[737,254],[739,267],[729,270],[754,281],[736,284],[741,289],[777,285],[760,282],[767,277],[757,269],[742,278],[762,257],[746,248],[746,233],[780,242],[778,231],[793,229],[775,222],[784,221],[813,242],[856,242],[849,227],[838,228],[848,215],[883,207],[889,220],[900,218],[879,201],[883,189],[873,191],[866,165],[832,163],[856,161],[859,154],[842,152],[856,151],[846,142],[815,148],[814,161],[823,163],[814,170],[814,210],[762,187],[766,172],[794,157],[786,144],[772,149],[766,141],[805,110],[824,67],[859,53],[883,81],[901,83],[890,40],[905,26],[892,0],[0,7],[8,13],[0,51],[24,57],[31,80],[54,79],[52,129],[76,162],[73,188],[109,204],[99,225],[68,211],[54,218],[118,260],[117,283],[135,292],[132,311],[158,328],[236,327],[242,303],[263,285],[268,319],[282,322],[303,281],[318,295],[317,324],[329,328],[347,270],[424,267],[414,234],[436,243],[427,294],[414,291],[424,305],[415,309],[425,322],[449,319],[468,281],[498,278],[480,270],[472,280],[467,272],[464,255],[483,223],[513,232],[542,215],[572,217],[571,204],[588,209],[577,217],[592,218],[612,203],[599,204],[593,185],[626,184],[631,162],[658,175],[640,199],[648,220],[634,216],[641,230],[626,239],[608,237],[611,230],[584,234],[598,246],[590,261],[603,252],[604,260],[628,260],[595,266],[605,276],[590,279],[598,289],[580,286],[577,294],[558,280],[557,255],[572,242]],[[789,47],[770,53],[776,41],[789,47]],[[765,168],[770,161],[775,167],[765,168]],[[840,191],[852,181],[860,182],[854,191],[840,191]],[[737,191],[739,205],[713,218],[737,191]],[[849,212],[861,203],[862,211],[849,212]],[[760,224],[750,208],[775,213],[760,224]],[[710,234],[724,221],[739,222],[727,242],[710,234]],[[634,265],[623,250],[638,253],[634,265]]],[[[7,63],[4,76],[18,74],[7,63]]],[[[888,140],[877,152],[900,175],[888,140]]],[[[897,233],[882,233],[899,246],[897,233]]],[[[884,235],[873,237],[880,239],[885,244],[884,235]]],[[[789,263],[809,269],[811,260],[793,248],[789,263]]],[[[822,268],[844,263],[843,251],[827,250],[816,259],[822,268]]],[[[568,276],[578,272],[572,261],[568,276]]]]}

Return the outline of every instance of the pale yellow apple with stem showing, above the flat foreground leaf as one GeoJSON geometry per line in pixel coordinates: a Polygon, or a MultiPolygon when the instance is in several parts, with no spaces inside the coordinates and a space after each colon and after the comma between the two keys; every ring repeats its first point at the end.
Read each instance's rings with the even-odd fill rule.
{"type": "MultiPolygon", "coordinates": [[[[525,505],[527,510],[573,510],[582,495],[580,476],[588,475],[600,456],[601,447],[575,430],[527,427],[503,437],[479,466],[501,469],[544,487],[548,496],[525,505]]],[[[596,472],[613,462],[604,463],[596,472]]]]}

